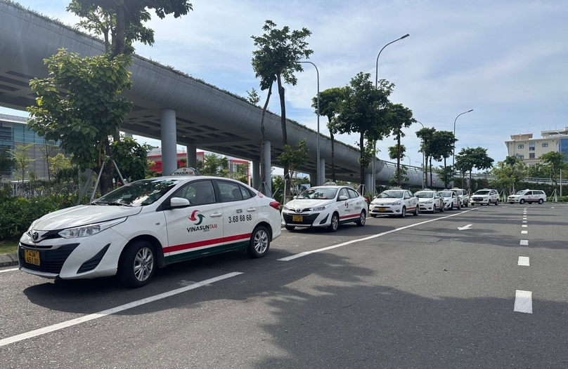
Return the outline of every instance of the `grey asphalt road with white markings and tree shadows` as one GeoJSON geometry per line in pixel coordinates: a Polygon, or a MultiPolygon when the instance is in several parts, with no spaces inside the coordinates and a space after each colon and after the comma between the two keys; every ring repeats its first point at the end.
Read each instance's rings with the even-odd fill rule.
{"type": "Polygon", "coordinates": [[[283,231],[136,290],[0,269],[0,368],[568,368],[567,210],[283,231]]]}

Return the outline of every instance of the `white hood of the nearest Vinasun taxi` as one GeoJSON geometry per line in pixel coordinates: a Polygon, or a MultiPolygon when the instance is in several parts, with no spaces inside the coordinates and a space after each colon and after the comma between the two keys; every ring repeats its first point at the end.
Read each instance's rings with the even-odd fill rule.
{"type": "Polygon", "coordinates": [[[79,205],[54,211],[39,218],[34,224],[34,229],[51,231],[79,227],[86,224],[105,222],[120,217],[129,217],[140,213],[142,206],[95,206],[79,205]]]}

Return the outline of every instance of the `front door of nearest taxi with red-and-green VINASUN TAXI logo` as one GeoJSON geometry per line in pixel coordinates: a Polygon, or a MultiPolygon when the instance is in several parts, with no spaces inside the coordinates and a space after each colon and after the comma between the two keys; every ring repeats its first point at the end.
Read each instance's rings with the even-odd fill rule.
{"type": "MultiPolygon", "coordinates": [[[[190,205],[164,210],[168,246],[166,263],[213,253],[223,247],[223,208],[212,180],[195,180],[172,195],[190,205]]],[[[171,199],[171,198],[170,198],[171,199]]]]}

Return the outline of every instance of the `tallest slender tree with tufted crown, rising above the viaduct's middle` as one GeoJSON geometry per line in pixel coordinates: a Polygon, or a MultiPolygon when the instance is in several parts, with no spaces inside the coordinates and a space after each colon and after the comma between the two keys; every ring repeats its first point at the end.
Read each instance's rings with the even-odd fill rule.
{"type": "MultiPolygon", "coordinates": [[[[304,69],[299,60],[309,58],[314,51],[308,48],[306,38],[311,35],[307,28],[290,32],[290,27],[282,29],[276,28],[276,23],[271,20],[264,22],[264,34],[262,36],[252,36],[254,46],[257,50],[253,51],[252,64],[254,71],[262,74],[262,79],[269,82],[272,86],[273,77],[278,83],[278,95],[280,97],[280,125],[282,126],[282,143],[288,145],[288,132],[286,129],[286,105],[285,90],[283,83],[295,86],[297,78],[295,72],[302,72],[304,69]],[[257,65],[257,67],[255,67],[257,65]]],[[[262,86],[261,86],[261,89],[262,86]]],[[[261,152],[261,156],[264,152],[261,152]]],[[[288,168],[284,167],[284,173],[288,173],[288,168]]],[[[288,191],[288,189],[286,189],[288,191]]]]}

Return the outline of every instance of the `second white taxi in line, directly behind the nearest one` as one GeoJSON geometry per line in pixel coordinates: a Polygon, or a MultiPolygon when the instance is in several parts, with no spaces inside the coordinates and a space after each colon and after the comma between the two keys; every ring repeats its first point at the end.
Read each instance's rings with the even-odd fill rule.
{"type": "Polygon", "coordinates": [[[288,231],[296,227],[327,227],[335,232],[340,224],[348,222],[363,227],[366,219],[365,198],[347,186],[310,187],[282,209],[282,222],[288,231]]]}

